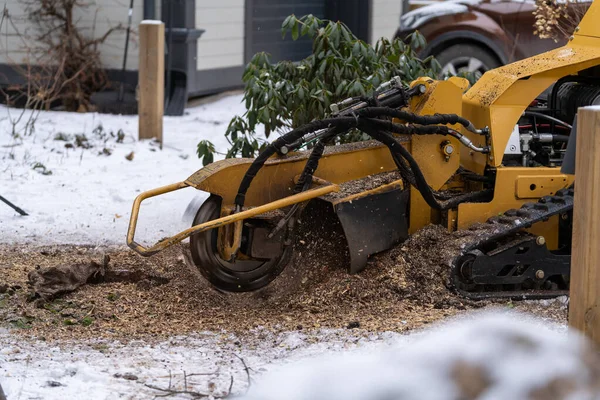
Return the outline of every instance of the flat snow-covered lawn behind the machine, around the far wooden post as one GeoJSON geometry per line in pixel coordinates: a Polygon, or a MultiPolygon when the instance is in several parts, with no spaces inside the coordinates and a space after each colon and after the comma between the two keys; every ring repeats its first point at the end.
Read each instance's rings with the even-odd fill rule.
{"type": "MultiPolygon", "coordinates": [[[[42,112],[32,135],[23,134],[24,117],[18,126],[20,137],[14,138],[11,121],[20,111],[1,107],[0,195],[29,213],[21,217],[0,203],[2,242],[124,244],[134,198],[183,181],[202,168],[196,156],[198,141],[211,140],[224,152],[229,121],[244,112],[241,99],[232,95],[188,108],[182,117],[165,117],[162,151],[150,140],[136,140],[135,115],[42,112]],[[119,130],[125,134],[123,143],[111,136],[119,130]],[[65,148],[82,134],[93,148],[65,148]],[[99,154],[104,148],[112,154],[99,154]],[[131,152],[133,159],[128,161],[125,157],[131,152]],[[45,169],[34,169],[38,163],[45,169]]],[[[199,193],[188,188],[144,202],[138,241],[153,244],[189,227],[182,216],[199,193]]]]}

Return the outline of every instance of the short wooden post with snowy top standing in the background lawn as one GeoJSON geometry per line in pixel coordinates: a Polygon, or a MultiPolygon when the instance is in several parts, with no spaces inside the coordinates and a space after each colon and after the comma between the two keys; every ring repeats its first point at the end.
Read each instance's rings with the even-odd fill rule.
{"type": "Polygon", "coordinates": [[[140,23],[139,139],[156,138],[162,149],[165,101],[165,24],[140,23]]]}

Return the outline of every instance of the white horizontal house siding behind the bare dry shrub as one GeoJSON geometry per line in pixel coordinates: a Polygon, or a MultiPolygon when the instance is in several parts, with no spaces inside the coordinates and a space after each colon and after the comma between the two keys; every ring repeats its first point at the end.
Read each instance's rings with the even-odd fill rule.
{"type": "MultiPolygon", "coordinates": [[[[6,8],[15,24],[4,22],[0,32],[0,63],[27,62],[27,42],[35,37],[34,27],[28,21],[22,0],[5,0],[6,8]],[[19,37],[19,34],[21,37],[19,37]]],[[[123,65],[125,49],[125,28],[127,27],[129,0],[89,0],[86,8],[76,9],[75,18],[82,33],[89,38],[98,38],[112,27],[122,25],[123,29],[111,33],[104,44],[98,48],[105,68],[120,69],[123,65]]],[[[132,33],[129,40],[127,69],[138,67],[137,26],[143,17],[143,2],[134,3],[132,33]]],[[[33,47],[29,45],[30,47],[33,47]]]]}

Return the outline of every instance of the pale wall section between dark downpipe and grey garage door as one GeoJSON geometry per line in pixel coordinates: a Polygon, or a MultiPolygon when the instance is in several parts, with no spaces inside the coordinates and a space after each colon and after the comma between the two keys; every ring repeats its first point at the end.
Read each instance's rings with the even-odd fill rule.
{"type": "Polygon", "coordinates": [[[196,0],[198,70],[244,64],[244,0],[196,0]]]}

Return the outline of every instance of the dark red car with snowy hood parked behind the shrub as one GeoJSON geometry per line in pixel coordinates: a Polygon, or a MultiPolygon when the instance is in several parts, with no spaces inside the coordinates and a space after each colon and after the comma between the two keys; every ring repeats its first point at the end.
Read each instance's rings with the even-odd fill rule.
{"type": "Polygon", "coordinates": [[[396,37],[418,30],[427,39],[421,57],[434,55],[444,72],[479,75],[564,44],[534,35],[534,10],[533,1],[441,1],[404,14],[396,37]]]}

